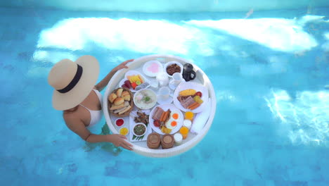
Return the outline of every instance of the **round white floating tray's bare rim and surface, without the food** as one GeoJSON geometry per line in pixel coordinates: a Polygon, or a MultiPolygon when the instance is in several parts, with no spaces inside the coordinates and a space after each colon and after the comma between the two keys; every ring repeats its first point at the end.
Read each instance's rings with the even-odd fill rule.
{"type": "MultiPolygon", "coordinates": [[[[142,75],[145,75],[143,73],[143,64],[152,61],[152,60],[157,60],[160,61],[163,65],[169,61],[177,61],[184,65],[185,63],[191,63],[187,61],[184,58],[180,58],[178,56],[172,56],[172,55],[161,55],[161,54],[156,54],[156,55],[150,55],[150,56],[143,56],[141,58],[135,59],[133,62],[128,63],[127,66],[129,68],[124,68],[122,70],[119,70],[115,75],[112,77],[110,82],[108,83],[108,86],[106,87],[105,94],[103,97],[103,107],[108,108],[108,95],[110,92],[113,91],[113,89],[116,89],[119,87],[120,82],[122,82],[122,79],[124,79],[124,75],[127,73],[129,70],[136,70],[140,72],[142,75]]],[[[192,63],[193,64],[193,63],[192,63]]],[[[175,156],[178,154],[181,154],[185,151],[188,151],[188,149],[191,149],[194,147],[200,140],[202,140],[203,137],[207,134],[209,128],[212,125],[212,121],[214,120],[214,114],[216,112],[216,95],[214,92],[214,87],[212,86],[212,83],[210,82],[209,78],[205,73],[198,68],[195,64],[193,64],[194,70],[196,72],[196,78],[195,80],[191,82],[198,82],[204,87],[207,88],[209,92],[209,101],[207,104],[209,104],[209,117],[207,118],[202,118],[202,120],[207,120],[205,123],[205,126],[197,133],[188,133],[188,137],[186,140],[183,140],[183,142],[179,146],[172,147],[170,149],[150,149],[147,146],[147,143],[145,140],[142,141],[134,141],[131,142],[133,144],[133,151],[136,152],[137,154],[141,154],[143,156],[150,156],[150,157],[169,157],[169,156],[175,156]]],[[[150,81],[155,81],[155,77],[147,77],[148,80],[150,81]]],[[[157,88],[153,87],[154,90],[157,90],[157,88]]],[[[207,106],[208,107],[208,106],[207,106]]],[[[114,134],[118,134],[119,131],[117,130],[118,128],[115,126],[115,119],[117,117],[112,116],[108,112],[108,109],[103,109],[104,111],[104,116],[106,119],[106,123],[108,123],[108,127],[114,134]]],[[[129,117],[129,116],[128,116],[129,117]]],[[[195,118],[198,119],[198,118],[195,118]]],[[[199,118],[200,120],[200,118],[199,118]]],[[[150,124],[150,123],[149,123],[150,124]]]]}

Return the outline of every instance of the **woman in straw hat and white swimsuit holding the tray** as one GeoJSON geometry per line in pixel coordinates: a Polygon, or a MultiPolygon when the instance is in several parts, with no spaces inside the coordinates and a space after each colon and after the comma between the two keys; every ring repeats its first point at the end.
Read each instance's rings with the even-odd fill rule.
{"type": "Polygon", "coordinates": [[[131,150],[132,145],[124,135],[96,135],[89,129],[102,118],[102,95],[111,77],[133,59],[113,68],[98,82],[99,64],[93,56],[82,56],[76,62],[63,59],[51,68],[48,82],[53,91],[53,108],[63,111],[63,118],[70,130],[86,142],[111,142],[117,147],[131,150]]]}

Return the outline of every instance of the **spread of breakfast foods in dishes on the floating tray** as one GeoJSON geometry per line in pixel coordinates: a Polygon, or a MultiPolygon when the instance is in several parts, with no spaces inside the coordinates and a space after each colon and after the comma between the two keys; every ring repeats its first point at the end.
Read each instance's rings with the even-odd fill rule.
{"type": "MultiPolygon", "coordinates": [[[[164,68],[159,61],[148,61],[143,66],[143,75],[153,79],[164,71],[168,76],[182,73],[183,66],[176,61],[168,62],[164,68]]],[[[119,117],[114,125],[119,128],[120,135],[129,135],[130,142],[146,141],[150,149],[179,146],[188,138],[194,115],[197,113],[195,109],[207,100],[208,92],[202,89],[200,84],[198,86],[201,87],[175,87],[174,91],[178,93],[175,92],[173,97],[179,104],[157,104],[157,94],[154,91],[156,87],[150,87],[153,82],[143,75],[136,70],[129,70],[120,81],[120,87],[108,95],[108,111],[119,117]],[[125,116],[129,116],[128,126],[127,122],[124,122],[125,116]]],[[[159,82],[157,79],[155,81],[159,82]]]]}

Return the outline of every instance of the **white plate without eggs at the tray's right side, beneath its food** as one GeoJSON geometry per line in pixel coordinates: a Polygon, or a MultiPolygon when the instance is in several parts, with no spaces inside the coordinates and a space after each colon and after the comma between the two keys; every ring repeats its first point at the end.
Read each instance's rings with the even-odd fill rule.
{"type": "Polygon", "coordinates": [[[179,92],[181,92],[184,89],[195,89],[196,92],[202,92],[202,101],[203,103],[197,108],[194,109],[192,112],[193,113],[199,113],[203,110],[205,110],[205,106],[207,106],[207,101],[208,101],[208,89],[201,85],[200,83],[196,83],[196,82],[181,82],[181,84],[179,84],[176,87],[176,90],[174,92],[174,104],[175,106],[177,106],[178,109],[181,109],[181,111],[190,111],[189,109],[185,109],[182,105],[181,102],[179,102],[179,100],[177,99],[177,97],[179,96],[179,92]]]}

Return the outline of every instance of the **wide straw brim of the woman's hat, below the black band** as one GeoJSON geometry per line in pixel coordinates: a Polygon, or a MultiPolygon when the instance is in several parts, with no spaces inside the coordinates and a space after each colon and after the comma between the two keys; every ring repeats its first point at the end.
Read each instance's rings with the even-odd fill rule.
{"type": "Polygon", "coordinates": [[[82,76],[69,92],[63,94],[57,90],[53,91],[53,108],[56,110],[64,111],[79,105],[96,85],[99,75],[97,59],[93,56],[81,56],[75,63],[82,66],[82,76]]]}

